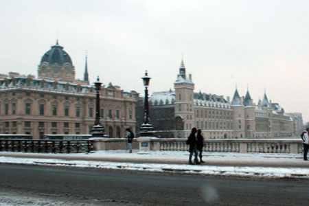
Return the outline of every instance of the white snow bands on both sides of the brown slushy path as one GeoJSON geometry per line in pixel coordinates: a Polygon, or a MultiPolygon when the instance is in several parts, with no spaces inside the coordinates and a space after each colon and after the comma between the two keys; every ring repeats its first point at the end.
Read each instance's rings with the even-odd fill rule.
{"type": "MultiPolygon", "coordinates": [[[[1,152],[5,153],[5,152],[1,152]]],[[[67,157],[87,157],[85,160],[65,160],[53,159],[56,154],[46,154],[42,158],[17,158],[1,157],[1,163],[23,163],[36,165],[65,165],[76,168],[104,168],[115,170],[138,170],[145,172],[176,172],[182,174],[216,174],[231,176],[259,176],[271,178],[304,178],[309,179],[309,168],[280,168],[280,167],[249,167],[249,166],[216,166],[216,165],[187,165],[170,163],[171,161],[187,161],[188,152],[185,151],[150,151],[139,150],[128,154],[126,150],[96,151],[93,153],[66,154],[67,157]],[[49,157],[49,158],[47,158],[49,157]],[[134,163],[134,162],[113,162],[113,161],[93,161],[95,157],[111,157],[117,159],[165,159],[169,163],[134,163]]],[[[11,152],[12,154],[12,152],[11,152]]],[[[42,155],[42,154],[37,154],[42,155]]],[[[59,154],[64,155],[64,154],[59,154]]],[[[301,162],[301,154],[266,154],[266,153],[236,153],[236,152],[205,152],[205,161],[295,161],[301,162]]],[[[305,162],[304,162],[305,163],[305,162]]],[[[308,162],[306,162],[308,163],[308,162]]]]}

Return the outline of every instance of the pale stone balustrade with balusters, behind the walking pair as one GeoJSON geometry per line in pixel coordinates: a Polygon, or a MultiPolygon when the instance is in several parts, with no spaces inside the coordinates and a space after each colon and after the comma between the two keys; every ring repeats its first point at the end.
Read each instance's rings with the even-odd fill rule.
{"type": "MultiPolygon", "coordinates": [[[[187,151],[186,139],[138,138],[139,150],[187,151]]],[[[301,153],[300,139],[205,139],[205,152],[301,153]]]]}

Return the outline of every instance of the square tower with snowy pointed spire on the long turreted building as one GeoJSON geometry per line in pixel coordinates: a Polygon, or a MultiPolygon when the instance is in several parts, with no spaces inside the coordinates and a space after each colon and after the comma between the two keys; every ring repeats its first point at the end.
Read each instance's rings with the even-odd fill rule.
{"type": "Polygon", "coordinates": [[[181,60],[179,74],[174,82],[175,89],[175,133],[176,138],[185,138],[190,135],[192,127],[195,126],[194,115],[194,83],[192,82],[192,75],[189,77],[185,74],[185,64],[181,60]]]}

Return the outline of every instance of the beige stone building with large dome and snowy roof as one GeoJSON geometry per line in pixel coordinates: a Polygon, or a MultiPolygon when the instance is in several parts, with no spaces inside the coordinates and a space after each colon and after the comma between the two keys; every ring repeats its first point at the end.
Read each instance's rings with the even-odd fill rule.
{"type": "MultiPolygon", "coordinates": [[[[38,78],[10,72],[0,75],[0,133],[89,134],[95,119],[95,88],[89,85],[87,57],[84,79],[75,77],[72,60],[58,45],[38,65],[38,78]]],[[[100,91],[100,117],[108,137],[135,130],[135,91],[109,83],[100,91]]]]}

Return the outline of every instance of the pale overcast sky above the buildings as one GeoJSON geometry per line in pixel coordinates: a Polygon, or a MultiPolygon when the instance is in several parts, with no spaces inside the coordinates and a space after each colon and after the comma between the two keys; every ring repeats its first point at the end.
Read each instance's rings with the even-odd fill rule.
{"type": "Polygon", "coordinates": [[[0,73],[37,76],[59,39],[83,78],[124,91],[174,89],[181,56],[195,91],[233,97],[247,87],[309,121],[309,1],[0,0],[0,73]]]}

